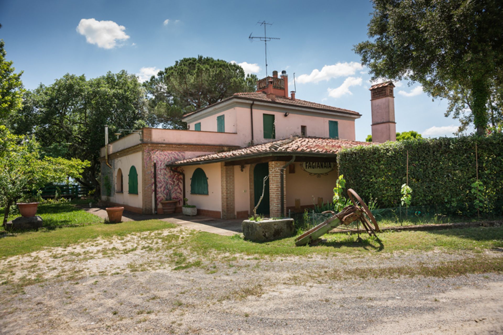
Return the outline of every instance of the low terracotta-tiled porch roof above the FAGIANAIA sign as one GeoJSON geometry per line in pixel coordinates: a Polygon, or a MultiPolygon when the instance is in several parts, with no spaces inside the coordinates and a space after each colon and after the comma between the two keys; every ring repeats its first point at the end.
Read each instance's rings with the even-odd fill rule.
{"type": "Polygon", "coordinates": [[[175,161],[169,166],[214,163],[217,161],[241,160],[263,156],[321,156],[335,157],[343,148],[371,145],[370,142],[349,141],[320,137],[290,137],[246,148],[218,152],[209,155],[175,161]]]}

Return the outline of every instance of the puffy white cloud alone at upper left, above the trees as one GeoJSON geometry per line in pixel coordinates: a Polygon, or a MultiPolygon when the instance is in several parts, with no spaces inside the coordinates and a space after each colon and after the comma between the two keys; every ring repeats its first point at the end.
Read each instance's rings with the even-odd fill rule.
{"type": "Polygon", "coordinates": [[[82,19],[77,26],[77,32],[86,36],[86,41],[96,44],[100,48],[112,49],[117,46],[118,40],[127,40],[124,32],[126,27],[119,26],[113,21],[97,21],[95,19],[82,19]]]}

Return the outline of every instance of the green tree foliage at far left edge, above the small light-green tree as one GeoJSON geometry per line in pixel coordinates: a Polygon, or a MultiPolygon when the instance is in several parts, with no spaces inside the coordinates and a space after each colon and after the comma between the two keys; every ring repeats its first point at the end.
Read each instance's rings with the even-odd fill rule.
{"type": "Polygon", "coordinates": [[[0,121],[21,108],[24,91],[21,81],[23,72],[14,73],[12,61],[5,59],[7,52],[4,46],[4,40],[0,40],[0,121]]]}

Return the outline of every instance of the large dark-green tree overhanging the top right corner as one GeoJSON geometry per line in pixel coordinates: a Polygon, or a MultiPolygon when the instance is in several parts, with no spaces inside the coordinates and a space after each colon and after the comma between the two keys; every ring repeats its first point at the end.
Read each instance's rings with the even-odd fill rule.
{"type": "Polygon", "coordinates": [[[491,96],[503,83],[501,2],[374,0],[373,6],[374,40],[354,49],[373,78],[420,82],[433,98],[449,100],[446,115],[469,108],[464,122],[473,121],[483,135],[491,96]]]}

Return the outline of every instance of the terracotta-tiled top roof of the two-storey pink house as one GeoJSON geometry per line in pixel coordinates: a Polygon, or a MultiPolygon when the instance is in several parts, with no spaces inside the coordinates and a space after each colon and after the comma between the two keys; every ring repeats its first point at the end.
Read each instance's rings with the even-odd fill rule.
{"type": "Polygon", "coordinates": [[[287,97],[276,96],[276,100],[273,101],[273,100],[267,98],[267,95],[266,95],[265,92],[244,92],[244,93],[235,93],[232,97],[224,99],[224,100],[222,100],[220,102],[217,102],[217,103],[212,104],[212,105],[210,105],[208,107],[205,107],[205,108],[202,108],[200,110],[197,110],[195,112],[186,114],[186,115],[184,115],[184,117],[187,117],[187,116],[190,116],[190,115],[193,115],[193,114],[197,114],[200,111],[203,111],[203,110],[205,110],[207,108],[216,106],[216,105],[218,105],[218,104],[220,104],[220,103],[222,103],[224,101],[228,101],[228,100],[233,99],[233,98],[243,99],[243,100],[259,100],[259,101],[269,102],[269,103],[273,103],[273,104],[282,104],[282,105],[285,105],[285,106],[305,107],[305,108],[324,110],[324,111],[328,111],[328,112],[339,112],[339,113],[352,114],[352,115],[358,115],[358,116],[361,115],[360,113],[355,112],[355,111],[351,111],[349,109],[344,109],[344,108],[339,108],[339,107],[333,107],[333,106],[328,106],[328,105],[317,104],[317,103],[313,103],[313,102],[305,101],[305,100],[300,100],[300,99],[292,100],[292,99],[287,98],[287,97]]]}

